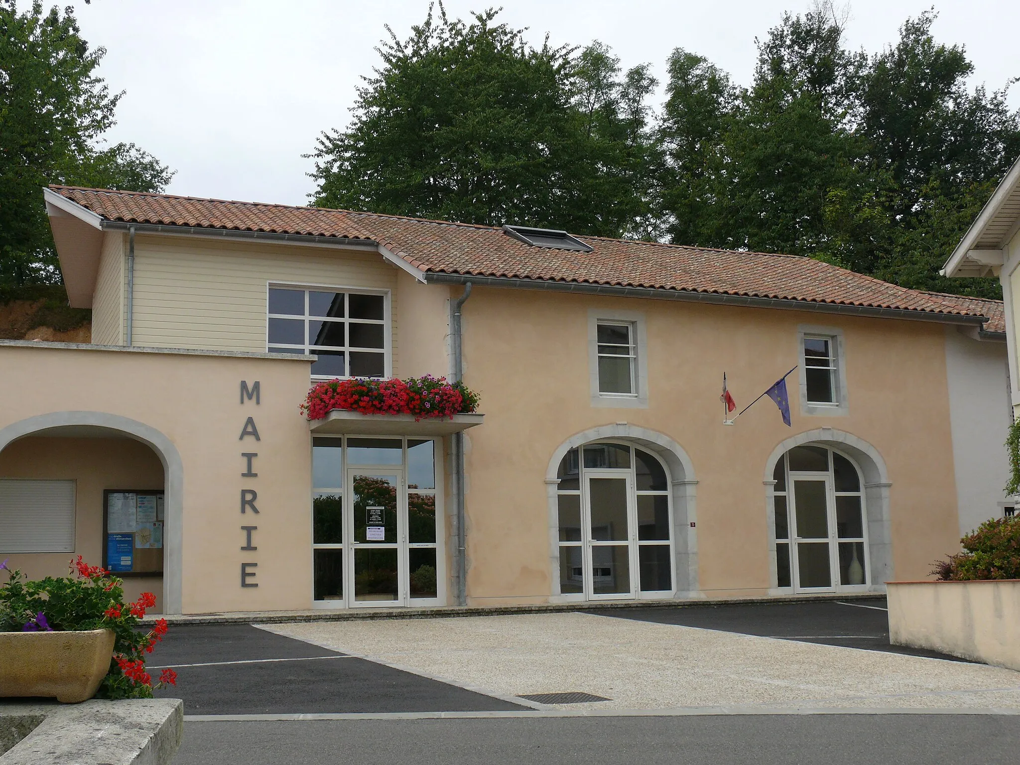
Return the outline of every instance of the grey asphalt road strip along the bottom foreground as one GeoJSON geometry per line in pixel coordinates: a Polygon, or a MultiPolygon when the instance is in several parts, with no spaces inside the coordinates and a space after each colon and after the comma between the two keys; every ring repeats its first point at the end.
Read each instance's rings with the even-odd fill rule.
{"type": "Polygon", "coordinates": [[[174,765],[1014,763],[1016,717],[731,715],[188,723],[174,765]]]}

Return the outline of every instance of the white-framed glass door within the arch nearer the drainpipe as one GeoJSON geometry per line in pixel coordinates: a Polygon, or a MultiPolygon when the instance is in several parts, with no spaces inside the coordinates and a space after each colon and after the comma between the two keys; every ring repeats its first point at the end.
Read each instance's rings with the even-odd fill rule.
{"type": "Polygon", "coordinates": [[[635,551],[630,476],[618,471],[584,473],[588,565],[585,591],[593,599],[633,598],[635,551]]]}

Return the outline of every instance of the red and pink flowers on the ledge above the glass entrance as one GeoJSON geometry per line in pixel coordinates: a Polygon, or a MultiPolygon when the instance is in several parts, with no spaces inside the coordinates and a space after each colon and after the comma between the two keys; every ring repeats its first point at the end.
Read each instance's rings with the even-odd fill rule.
{"type": "Polygon", "coordinates": [[[316,382],[301,412],[315,432],[444,436],[480,424],[478,396],[445,377],[316,382]]]}

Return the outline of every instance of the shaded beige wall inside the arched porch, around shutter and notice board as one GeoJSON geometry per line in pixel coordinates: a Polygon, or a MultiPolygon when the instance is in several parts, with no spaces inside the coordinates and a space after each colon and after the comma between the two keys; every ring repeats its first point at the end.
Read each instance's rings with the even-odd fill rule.
{"type": "MultiPolygon", "coordinates": [[[[81,555],[90,565],[103,560],[103,491],[162,489],[163,465],[148,446],[133,439],[24,438],[0,452],[0,478],[74,481],[74,552],[12,554],[9,566],[32,579],[66,575],[68,561],[81,555]]],[[[7,557],[6,555],[4,557],[7,557]]],[[[129,577],[124,595],[156,595],[162,610],[161,577],[129,577]]]]}

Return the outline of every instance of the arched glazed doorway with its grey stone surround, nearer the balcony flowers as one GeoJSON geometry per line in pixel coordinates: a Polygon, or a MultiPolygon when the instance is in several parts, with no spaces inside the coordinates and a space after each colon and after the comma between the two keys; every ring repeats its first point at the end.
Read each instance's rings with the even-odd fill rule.
{"type": "Polygon", "coordinates": [[[554,601],[697,597],[696,482],[661,434],[578,434],[550,462],[554,601]]]}

